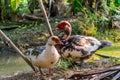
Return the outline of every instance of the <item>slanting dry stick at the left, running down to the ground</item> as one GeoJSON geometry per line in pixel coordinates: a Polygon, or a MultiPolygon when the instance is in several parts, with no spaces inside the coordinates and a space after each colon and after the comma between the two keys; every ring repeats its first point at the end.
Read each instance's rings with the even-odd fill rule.
{"type": "Polygon", "coordinates": [[[0,29],[0,37],[2,37],[8,43],[9,46],[15,49],[15,51],[19,53],[19,55],[26,61],[26,63],[35,71],[34,66],[28,60],[28,58],[15,46],[15,44],[2,32],[1,29],[0,29]]]}

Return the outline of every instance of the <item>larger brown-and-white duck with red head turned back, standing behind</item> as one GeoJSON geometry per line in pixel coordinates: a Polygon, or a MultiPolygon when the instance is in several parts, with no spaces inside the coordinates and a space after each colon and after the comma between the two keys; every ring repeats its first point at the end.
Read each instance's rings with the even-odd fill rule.
{"type": "Polygon", "coordinates": [[[98,49],[111,46],[110,41],[97,40],[94,37],[72,35],[72,27],[68,21],[61,21],[57,24],[56,30],[63,31],[59,35],[64,45],[56,45],[59,53],[64,58],[72,58],[74,61],[83,61],[89,58],[98,49]]]}

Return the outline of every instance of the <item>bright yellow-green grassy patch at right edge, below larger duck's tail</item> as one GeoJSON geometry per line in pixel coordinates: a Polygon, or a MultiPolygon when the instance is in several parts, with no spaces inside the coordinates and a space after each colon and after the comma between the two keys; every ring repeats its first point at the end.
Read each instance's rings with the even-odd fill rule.
{"type": "Polygon", "coordinates": [[[120,57],[120,42],[113,43],[112,46],[103,48],[97,51],[96,53],[111,56],[111,57],[120,57]]]}

